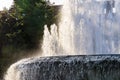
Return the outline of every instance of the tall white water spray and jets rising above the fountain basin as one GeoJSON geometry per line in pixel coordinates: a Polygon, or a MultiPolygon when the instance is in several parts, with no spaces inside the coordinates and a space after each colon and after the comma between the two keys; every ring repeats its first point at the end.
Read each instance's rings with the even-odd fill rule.
{"type": "Polygon", "coordinates": [[[44,33],[43,55],[119,54],[119,4],[118,0],[65,0],[59,26],[44,31],[49,34],[44,33]]]}

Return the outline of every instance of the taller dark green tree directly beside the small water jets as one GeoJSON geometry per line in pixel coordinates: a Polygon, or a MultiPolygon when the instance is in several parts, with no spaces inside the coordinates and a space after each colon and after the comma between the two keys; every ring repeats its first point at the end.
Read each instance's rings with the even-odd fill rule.
{"type": "Polygon", "coordinates": [[[56,12],[44,0],[15,0],[17,12],[23,16],[23,37],[29,48],[37,47],[42,39],[44,25],[56,21],[56,12]]]}

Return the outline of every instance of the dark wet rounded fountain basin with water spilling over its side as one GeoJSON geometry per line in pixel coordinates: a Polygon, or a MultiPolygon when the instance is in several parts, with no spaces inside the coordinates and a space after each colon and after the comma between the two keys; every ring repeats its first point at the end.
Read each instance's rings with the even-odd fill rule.
{"type": "Polygon", "coordinates": [[[15,80],[120,80],[120,55],[24,59],[8,69],[6,80],[10,80],[11,69],[17,76],[15,80]]]}

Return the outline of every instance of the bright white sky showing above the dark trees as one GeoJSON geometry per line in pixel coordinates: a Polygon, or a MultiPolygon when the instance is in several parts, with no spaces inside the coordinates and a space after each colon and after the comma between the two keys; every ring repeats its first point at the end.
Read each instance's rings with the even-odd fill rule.
{"type": "MultiPolygon", "coordinates": [[[[50,0],[50,2],[55,3],[56,5],[61,5],[63,0],[50,0]]],[[[0,11],[3,10],[4,7],[9,9],[12,4],[13,0],[0,0],[0,11]]]]}

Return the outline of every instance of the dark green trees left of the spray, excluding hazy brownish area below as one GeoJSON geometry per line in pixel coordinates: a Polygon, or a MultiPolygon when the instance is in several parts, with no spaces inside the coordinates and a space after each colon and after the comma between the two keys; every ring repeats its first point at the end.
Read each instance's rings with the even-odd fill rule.
{"type": "Polygon", "coordinates": [[[57,9],[44,0],[15,0],[9,11],[0,13],[0,46],[37,48],[42,40],[44,25],[57,23],[56,16],[57,9]]]}

